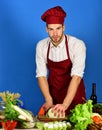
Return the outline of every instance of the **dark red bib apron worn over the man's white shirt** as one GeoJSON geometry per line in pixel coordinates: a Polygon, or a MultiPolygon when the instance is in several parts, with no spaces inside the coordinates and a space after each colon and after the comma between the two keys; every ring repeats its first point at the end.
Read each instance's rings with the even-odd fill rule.
{"type": "MultiPolygon", "coordinates": [[[[70,74],[72,63],[69,56],[68,41],[66,36],[65,36],[65,44],[66,44],[66,53],[68,56],[68,59],[66,60],[60,62],[53,62],[49,59],[50,43],[47,51],[47,66],[49,70],[48,83],[54,104],[63,103],[63,100],[67,94],[69,83],[71,81],[70,74]]],[[[85,87],[82,79],[70,107],[66,110],[66,114],[69,114],[70,109],[73,109],[75,105],[79,103],[84,103],[85,100],[83,100],[83,98],[86,99],[85,87]]]]}

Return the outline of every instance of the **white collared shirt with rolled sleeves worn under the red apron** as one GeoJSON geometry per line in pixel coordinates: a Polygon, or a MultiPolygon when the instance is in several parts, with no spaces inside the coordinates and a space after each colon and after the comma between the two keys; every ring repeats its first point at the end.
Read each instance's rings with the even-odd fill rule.
{"type": "MultiPolygon", "coordinates": [[[[71,76],[83,77],[86,59],[86,46],[82,40],[66,35],[68,39],[69,55],[72,62],[71,76]]],[[[47,50],[50,38],[45,38],[38,42],[36,47],[36,77],[47,76],[47,50]]],[[[55,47],[50,45],[49,59],[52,61],[63,61],[69,58],[66,52],[65,37],[63,41],[55,47]]]]}

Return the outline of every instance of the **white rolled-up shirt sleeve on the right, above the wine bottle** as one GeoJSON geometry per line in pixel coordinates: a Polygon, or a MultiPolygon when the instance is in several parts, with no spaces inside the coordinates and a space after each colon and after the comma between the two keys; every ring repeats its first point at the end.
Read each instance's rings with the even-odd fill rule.
{"type": "Polygon", "coordinates": [[[86,46],[81,40],[77,42],[78,44],[73,46],[71,76],[77,75],[82,78],[85,70],[86,46]]]}

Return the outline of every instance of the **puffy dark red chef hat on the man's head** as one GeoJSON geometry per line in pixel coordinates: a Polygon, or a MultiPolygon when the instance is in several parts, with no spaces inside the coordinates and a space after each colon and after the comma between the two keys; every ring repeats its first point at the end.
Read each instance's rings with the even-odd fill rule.
{"type": "Polygon", "coordinates": [[[56,6],[44,12],[41,19],[47,24],[63,24],[65,17],[66,12],[60,6],[56,6]]]}

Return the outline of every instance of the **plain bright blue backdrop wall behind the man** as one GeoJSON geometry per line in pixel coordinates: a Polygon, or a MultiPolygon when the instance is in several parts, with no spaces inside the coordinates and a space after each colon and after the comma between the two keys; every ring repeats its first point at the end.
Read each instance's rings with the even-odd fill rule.
{"type": "Polygon", "coordinates": [[[35,78],[35,48],[47,36],[42,13],[60,5],[67,12],[65,33],[87,47],[84,80],[102,102],[102,0],[0,0],[0,91],[19,92],[24,107],[37,114],[44,99],[35,78]]]}

